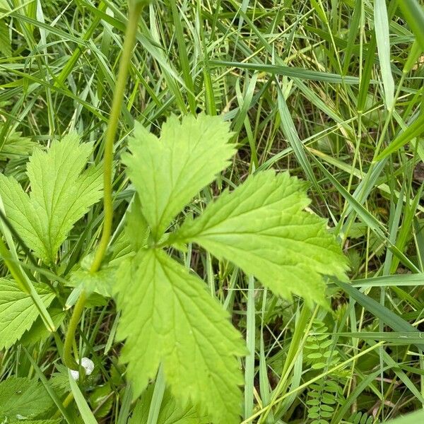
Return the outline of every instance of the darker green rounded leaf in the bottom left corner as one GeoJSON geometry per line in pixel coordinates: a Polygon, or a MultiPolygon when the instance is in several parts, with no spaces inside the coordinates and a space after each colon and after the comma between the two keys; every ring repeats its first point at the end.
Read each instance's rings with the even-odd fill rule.
{"type": "Polygon", "coordinates": [[[34,418],[52,407],[53,402],[41,383],[27,378],[9,377],[0,383],[0,420],[17,416],[34,418]]]}

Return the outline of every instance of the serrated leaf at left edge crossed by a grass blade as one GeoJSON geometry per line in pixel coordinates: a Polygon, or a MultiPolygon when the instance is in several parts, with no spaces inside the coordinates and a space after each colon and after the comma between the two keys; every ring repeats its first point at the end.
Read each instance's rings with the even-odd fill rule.
{"type": "MultiPolygon", "coordinates": [[[[40,285],[36,288],[44,305],[49,306],[54,294],[40,285]]],[[[0,350],[13,346],[39,315],[30,295],[15,281],[0,278],[0,350]]]]}

